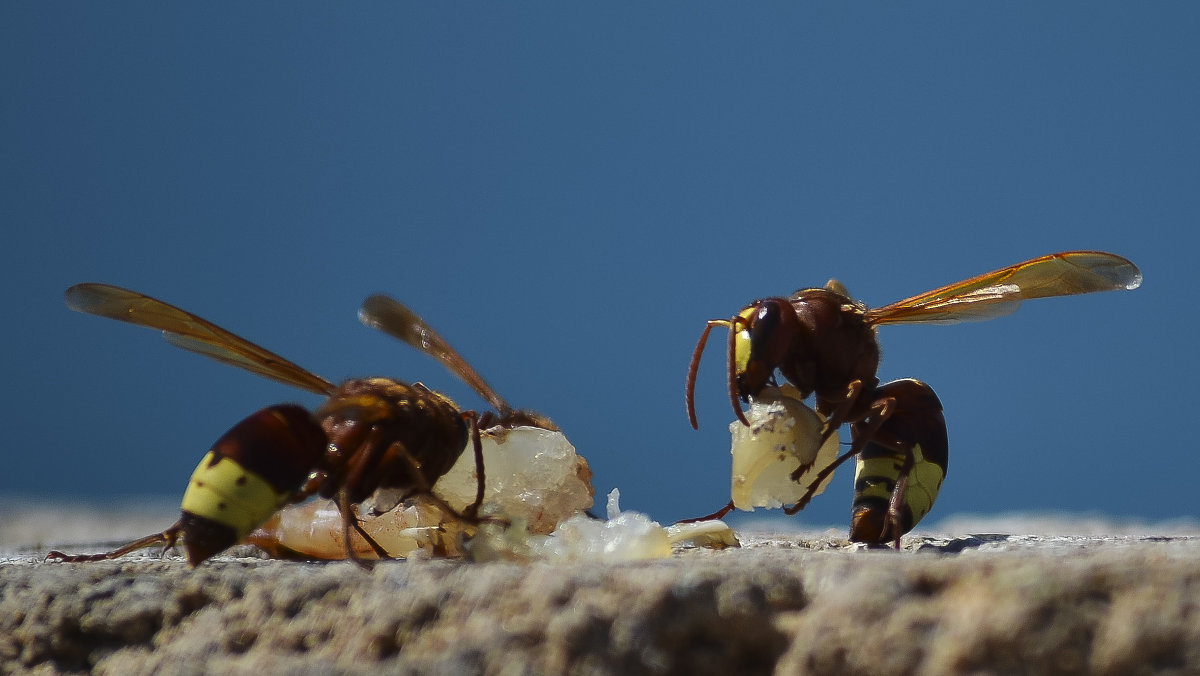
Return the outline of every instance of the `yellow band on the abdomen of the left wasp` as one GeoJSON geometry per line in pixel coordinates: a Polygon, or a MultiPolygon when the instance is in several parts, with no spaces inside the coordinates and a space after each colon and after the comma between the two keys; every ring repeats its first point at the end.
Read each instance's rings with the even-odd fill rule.
{"type": "Polygon", "coordinates": [[[229,526],[238,539],[266,521],[292,495],[276,492],[262,477],[228,457],[212,461],[209,451],[192,472],[181,507],[184,512],[229,526]]]}

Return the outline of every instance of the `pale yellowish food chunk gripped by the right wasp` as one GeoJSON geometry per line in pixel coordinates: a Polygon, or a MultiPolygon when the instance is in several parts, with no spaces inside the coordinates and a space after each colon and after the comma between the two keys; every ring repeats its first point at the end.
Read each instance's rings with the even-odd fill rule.
{"type": "MultiPolygon", "coordinates": [[[[733,455],[730,496],[738,509],[794,504],[816,474],[838,457],[838,435],[821,443],[824,418],[809,408],[791,385],[764,388],[750,399],[750,426],[730,424],[733,455]],[[792,473],[804,467],[799,480],[792,473]]],[[[833,474],[817,487],[824,491],[833,474]]]]}

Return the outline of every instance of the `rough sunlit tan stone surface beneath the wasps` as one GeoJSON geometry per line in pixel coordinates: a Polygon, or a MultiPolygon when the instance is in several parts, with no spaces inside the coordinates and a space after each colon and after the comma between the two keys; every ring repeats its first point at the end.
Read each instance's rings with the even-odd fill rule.
{"type": "Polygon", "coordinates": [[[0,672],[1200,672],[1200,538],[907,538],[894,552],[743,536],[638,563],[372,570],[10,549],[0,672]]]}

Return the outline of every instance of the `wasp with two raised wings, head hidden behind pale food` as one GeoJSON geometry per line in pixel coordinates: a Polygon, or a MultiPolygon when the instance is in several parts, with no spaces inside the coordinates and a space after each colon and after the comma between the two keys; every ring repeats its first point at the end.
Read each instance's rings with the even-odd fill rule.
{"type": "MultiPolygon", "coordinates": [[[[358,532],[379,558],[384,551],[361,527],[356,508],[367,498],[388,512],[415,495],[430,495],[470,443],[478,487],[463,513],[478,519],[484,498],[480,426],[534,425],[557,427],[545,417],[516,411],[424,319],[386,295],[372,295],[359,310],[360,321],[432,355],[469,384],[493,408],[476,414],[421,383],[391,378],[352,378],[335,385],[191,312],[136,291],[102,283],[66,291],[67,306],[79,312],[162,330],[167,342],[239,366],[252,373],[325,396],[310,412],[294,403],[269,406],[226,432],[200,460],[188,481],[178,522],[161,533],[98,555],[47,558],[85,562],[116,558],[131,551],[182,540],[191,567],[242,540],[288,503],[319,495],[334,498],[341,513],[347,558],[358,532]]],[[[437,501],[437,498],[433,498],[437,501]]],[[[438,501],[440,502],[440,501],[438,501]]]]}

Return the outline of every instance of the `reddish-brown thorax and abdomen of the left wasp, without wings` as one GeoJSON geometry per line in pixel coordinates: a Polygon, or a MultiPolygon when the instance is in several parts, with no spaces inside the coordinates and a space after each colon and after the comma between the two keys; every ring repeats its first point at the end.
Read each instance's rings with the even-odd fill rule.
{"type": "MultiPolygon", "coordinates": [[[[198,566],[245,538],[250,530],[235,518],[246,510],[265,520],[283,503],[319,493],[336,497],[349,514],[350,505],[390,489],[389,498],[374,504],[386,510],[428,492],[470,441],[472,417],[420,383],[390,378],[347,381],[316,414],[295,405],[251,414],[214,444],[192,477],[197,490],[185,495],[175,526],[188,562],[198,566]],[[221,496],[234,495],[236,481],[217,485],[226,484],[224,477],[206,472],[223,459],[252,473],[239,481],[264,480],[272,501],[226,504],[233,501],[221,496]],[[206,481],[211,489],[204,487],[206,481]],[[214,497],[214,491],[221,495],[214,497]]],[[[347,521],[352,527],[358,530],[356,520],[347,521]]]]}

